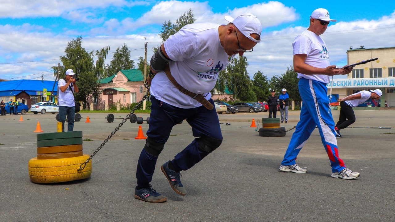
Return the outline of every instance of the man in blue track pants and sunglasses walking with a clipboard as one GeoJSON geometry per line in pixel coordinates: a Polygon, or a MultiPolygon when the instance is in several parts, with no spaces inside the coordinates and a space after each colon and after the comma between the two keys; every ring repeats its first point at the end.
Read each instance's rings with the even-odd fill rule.
{"type": "Polygon", "coordinates": [[[310,16],[310,26],[297,36],[292,43],[293,67],[298,73],[299,93],[303,100],[295,132],[281,162],[280,170],[293,173],[306,173],[307,169],[299,167],[295,160],[313,130],[318,127],[321,141],[328,154],[332,167],[331,177],[354,179],[359,173],[348,169],[339,157],[335,136],[335,122],[329,109],[326,84],[329,76],[350,73],[352,68],[336,68],[329,63],[327,46],[320,37],[328,27],[329,18],[326,9],[319,8],[310,16]]]}

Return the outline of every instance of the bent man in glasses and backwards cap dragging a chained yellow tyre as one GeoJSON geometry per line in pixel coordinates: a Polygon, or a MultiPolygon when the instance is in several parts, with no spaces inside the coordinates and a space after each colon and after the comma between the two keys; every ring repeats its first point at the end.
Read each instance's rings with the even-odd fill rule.
{"type": "Polygon", "coordinates": [[[262,32],[260,21],[252,14],[225,19],[229,22],[226,25],[187,24],[152,56],[147,78],[149,84],[152,81],[150,124],[137,164],[134,198],[151,203],[167,200],[150,182],[158,156],[177,123],[186,120],[196,137],[160,167],[177,194],[186,195],[180,171],[190,169],[221,145],[221,128],[210,91],[220,71],[235,55],[252,51],[262,32]]]}

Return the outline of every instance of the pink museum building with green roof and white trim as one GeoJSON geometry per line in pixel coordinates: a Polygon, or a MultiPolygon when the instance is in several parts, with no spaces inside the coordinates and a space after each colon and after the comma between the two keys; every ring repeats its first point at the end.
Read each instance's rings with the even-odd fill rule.
{"type": "MultiPolygon", "coordinates": [[[[144,95],[144,76],[138,69],[120,70],[116,75],[100,79],[100,97],[92,101],[94,106],[111,107],[116,103],[127,106],[139,102],[144,95]]],[[[98,109],[103,109],[103,108],[98,109]]]]}

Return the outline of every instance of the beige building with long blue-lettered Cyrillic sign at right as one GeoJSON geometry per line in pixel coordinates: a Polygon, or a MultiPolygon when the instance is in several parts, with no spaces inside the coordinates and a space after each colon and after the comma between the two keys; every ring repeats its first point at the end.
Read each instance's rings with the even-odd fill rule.
{"type": "Polygon", "coordinates": [[[359,49],[350,47],[347,50],[348,64],[369,58],[378,60],[355,66],[347,79],[331,79],[327,84],[328,94],[344,98],[361,90],[379,88],[383,92],[379,103],[367,100],[359,106],[395,107],[395,47],[366,49],[361,46],[359,49]]]}

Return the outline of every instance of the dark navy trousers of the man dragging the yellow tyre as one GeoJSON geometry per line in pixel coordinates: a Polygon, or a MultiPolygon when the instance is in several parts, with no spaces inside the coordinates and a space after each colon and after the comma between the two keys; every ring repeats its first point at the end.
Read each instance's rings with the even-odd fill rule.
{"type": "MultiPolygon", "coordinates": [[[[203,105],[196,108],[182,109],[162,102],[151,95],[151,116],[147,131],[147,145],[160,147],[166,143],[173,126],[186,120],[192,126],[194,137],[207,136],[222,140],[221,128],[215,109],[208,110],[203,105]]],[[[213,103],[210,99],[209,102],[213,103]]],[[[214,103],[213,103],[214,105],[214,103]]],[[[154,149],[156,150],[156,149],[154,149]]],[[[160,151],[154,153],[141,151],[137,163],[137,186],[148,187],[152,181],[156,160],[160,151]]],[[[179,152],[171,163],[177,171],[187,170],[207,156],[209,152],[199,149],[199,138],[194,139],[184,150],[179,152]]]]}

